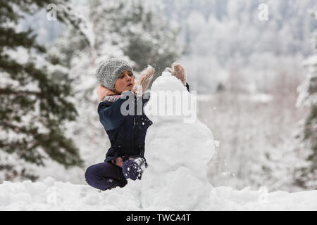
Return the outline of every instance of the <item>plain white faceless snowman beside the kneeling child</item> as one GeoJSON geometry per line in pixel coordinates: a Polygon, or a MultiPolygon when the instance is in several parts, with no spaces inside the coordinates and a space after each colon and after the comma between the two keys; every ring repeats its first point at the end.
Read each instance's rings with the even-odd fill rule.
{"type": "Polygon", "coordinates": [[[149,210],[203,210],[211,190],[206,180],[206,164],[215,150],[213,134],[197,119],[185,122],[187,115],[196,113],[194,104],[187,105],[190,112],[187,115],[182,111],[175,115],[176,109],[174,114],[167,115],[167,110],[180,99],[160,101],[164,94],[172,94],[166,91],[178,93],[182,102],[192,97],[180,80],[168,72],[163,72],[151,87],[151,98],[144,112],[154,124],[145,139],[149,167],[142,178],[142,206],[149,210]],[[155,114],[156,107],[166,108],[163,110],[166,114],[155,114]]]}

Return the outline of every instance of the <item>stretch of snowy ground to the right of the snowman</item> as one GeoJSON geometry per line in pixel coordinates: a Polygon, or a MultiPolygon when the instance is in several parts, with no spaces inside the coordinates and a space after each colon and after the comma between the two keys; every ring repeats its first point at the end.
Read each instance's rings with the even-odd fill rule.
{"type": "Polygon", "coordinates": [[[264,187],[237,191],[222,186],[210,192],[206,210],[317,210],[317,191],[268,193],[264,187]]]}

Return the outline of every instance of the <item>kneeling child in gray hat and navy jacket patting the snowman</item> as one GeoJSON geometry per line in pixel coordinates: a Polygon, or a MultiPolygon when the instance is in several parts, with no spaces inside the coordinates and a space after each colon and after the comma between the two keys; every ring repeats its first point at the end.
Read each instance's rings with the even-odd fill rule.
{"type": "MultiPolygon", "coordinates": [[[[185,69],[181,65],[174,63],[173,70],[166,70],[178,77],[189,90],[185,69]]],[[[125,186],[127,179],[141,179],[143,169],[147,167],[144,140],[152,122],[143,110],[142,115],[123,115],[120,110],[128,96],[134,98],[134,111],[137,110],[135,96],[143,97],[138,98],[142,101],[142,108],[149,101],[144,91],[154,75],[154,68],[148,66],[135,81],[130,65],[125,60],[113,58],[101,63],[96,75],[102,84],[97,89],[99,119],[108,134],[111,147],[104,162],[87,168],[85,178],[90,186],[105,191],[125,186]]]]}

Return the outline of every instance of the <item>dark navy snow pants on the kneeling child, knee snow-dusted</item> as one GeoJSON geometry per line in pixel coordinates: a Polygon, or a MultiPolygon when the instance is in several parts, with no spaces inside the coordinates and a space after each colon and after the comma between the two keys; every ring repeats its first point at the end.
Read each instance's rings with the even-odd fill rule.
{"type": "Polygon", "coordinates": [[[102,191],[116,186],[123,188],[128,184],[127,179],[141,179],[145,167],[144,158],[125,160],[122,168],[111,162],[101,162],[86,169],[85,179],[87,184],[102,191]]]}

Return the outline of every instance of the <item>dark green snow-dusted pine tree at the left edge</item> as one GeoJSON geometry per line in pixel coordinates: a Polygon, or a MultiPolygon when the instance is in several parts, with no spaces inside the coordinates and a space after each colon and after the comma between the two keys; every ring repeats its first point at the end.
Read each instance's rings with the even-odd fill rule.
{"type": "MultiPolygon", "coordinates": [[[[0,1],[0,170],[2,179],[37,179],[27,165],[54,160],[82,166],[64,123],[77,112],[68,98],[72,89],[58,58],[48,58],[33,30],[18,30],[24,15],[56,4],[57,19],[80,30],[80,19],[66,1],[0,1]]],[[[43,18],[46,20],[46,18],[43,18]]],[[[80,32],[82,34],[82,32],[80,32]]],[[[0,178],[1,180],[1,178],[0,178]]]]}

